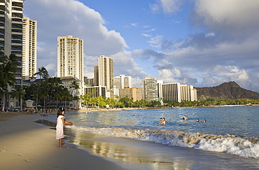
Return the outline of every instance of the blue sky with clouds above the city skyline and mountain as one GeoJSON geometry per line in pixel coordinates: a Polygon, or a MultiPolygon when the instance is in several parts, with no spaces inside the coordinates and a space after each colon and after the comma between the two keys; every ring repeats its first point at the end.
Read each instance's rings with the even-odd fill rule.
{"type": "Polygon", "coordinates": [[[100,55],[114,76],[259,92],[258,0],[26,0],[38,24],[37,67],[57,76],[57,36],[84,41],[84,76],[100,55]]]}

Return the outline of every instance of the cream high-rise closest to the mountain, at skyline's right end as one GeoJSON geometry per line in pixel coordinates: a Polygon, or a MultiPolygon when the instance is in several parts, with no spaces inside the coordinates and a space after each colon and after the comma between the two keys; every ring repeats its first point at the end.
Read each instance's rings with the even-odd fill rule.
{"type": "Polygon", "coordinates": [[[197,90],[193,85],[181,85],[181,101],[197,101],[197,90]]]}

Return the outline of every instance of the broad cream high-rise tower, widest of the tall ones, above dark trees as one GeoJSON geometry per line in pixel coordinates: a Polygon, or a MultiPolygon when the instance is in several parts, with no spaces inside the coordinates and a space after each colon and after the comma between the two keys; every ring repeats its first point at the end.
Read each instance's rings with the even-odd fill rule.
{"type": "Polygon", "coordinates": [[[79,94],[83,94],[83,40],[73,36],[57,37],[57,76],[72,76],[80,80],[79,94]]]}

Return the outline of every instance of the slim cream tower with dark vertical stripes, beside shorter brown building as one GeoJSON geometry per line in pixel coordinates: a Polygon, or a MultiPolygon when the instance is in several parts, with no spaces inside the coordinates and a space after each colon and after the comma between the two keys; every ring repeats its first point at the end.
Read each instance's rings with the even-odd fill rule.
{"type": "Polygon", "coordinates": [[[101,55],[98,59],[99,85],[106,86],[106,90],[113,87],[113,59],[101,55]]]}

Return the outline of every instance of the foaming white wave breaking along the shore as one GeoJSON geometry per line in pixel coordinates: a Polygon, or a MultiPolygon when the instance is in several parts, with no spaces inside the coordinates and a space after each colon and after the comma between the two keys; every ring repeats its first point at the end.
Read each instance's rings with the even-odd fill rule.
{"type": "Polygon", "coordinates": [[[124,129],[118,127],[76,127],[78,130],[140,141],[151,141],[168,146],[188,147],[213,152],[223,152],[240,157],[259,158],[259,139],[243,139],[233,135],[211,135],[181,132],[169,129],[124,129]]]}

